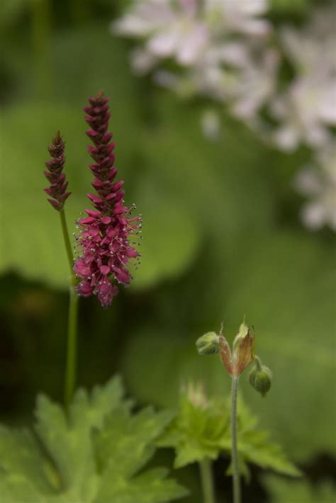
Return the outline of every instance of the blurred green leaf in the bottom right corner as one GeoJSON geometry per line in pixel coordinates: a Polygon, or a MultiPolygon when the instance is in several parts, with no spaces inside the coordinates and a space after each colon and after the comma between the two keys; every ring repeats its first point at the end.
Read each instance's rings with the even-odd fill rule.
{"type": "Polygon", "coordinates": [[[336,487],[332,482],[312,485],[307,480],[288,480],[275,475],[267,475],[263,482],[271,503],[333,503],[336,499],[336,487]]]}

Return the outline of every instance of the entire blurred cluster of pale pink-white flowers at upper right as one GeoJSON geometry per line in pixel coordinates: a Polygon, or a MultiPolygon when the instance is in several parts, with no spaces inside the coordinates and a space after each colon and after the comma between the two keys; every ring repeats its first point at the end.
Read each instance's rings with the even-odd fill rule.
{"type": "MultiPolygon", "coordinates": [[[[315,166],[297,176],[296,187],[310,200],[303,221],[311,229],[336,230],[335,9],[316,9],[303,28],[281,30],[280,49],[269,43],[271,24],[262,18],[267,0],[138,0],[120,21],[119,34],[140,41],[131,56],[135,72],[153,71],[155,82],[180,96],[206,96],[228,106],[235,117],[293,151],[306,143],[315,166]],[[279,94],[279,64],[284,53],[293,78],[279,94]],[[164,66],[165,60],[177,63],[164,66]],[[261,111],[278,125],[271,128],[261,111]],[[271,131],[271,133],[269,133],[271,131]]],[[[272,41],[274,42],[274,40],[272,41]]],[[[284,84],[284,83],[281,83],[284,84]]],[[[201,118],[204,135],[220,131],[213,108],[201,118]]]]}

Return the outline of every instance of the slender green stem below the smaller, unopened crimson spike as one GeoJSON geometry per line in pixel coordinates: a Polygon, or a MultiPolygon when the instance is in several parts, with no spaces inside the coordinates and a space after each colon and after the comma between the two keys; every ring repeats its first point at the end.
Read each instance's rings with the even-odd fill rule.
{"type": "Polygon", "coordinates": [[[74,395],[77,374],[77,322],[78,322],[78,295],[75,290],[77,284],[74,274],[73,264],[74,257],[72,254],[72,246],[67,230],[67,220],[65,219],[65,210],[60,210],[60,220],[63,238],[65,242],[65,250],[67,252],[67,260],[71,273],[71,285],[69,296],[69,318],[67,325],[67,365],[65,369],[65,408],[69,409],[69,404],[74,395]]]}

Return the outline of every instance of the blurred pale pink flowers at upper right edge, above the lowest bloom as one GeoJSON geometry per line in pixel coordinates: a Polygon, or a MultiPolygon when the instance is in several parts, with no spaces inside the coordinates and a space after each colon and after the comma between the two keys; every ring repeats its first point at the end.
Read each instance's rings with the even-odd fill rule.
{"type": "Polygon", "coordinates": [[[334,20],[334,11],[321,9],[303,30],[282,31],[296,77],[271,103],[271,112],[280,123],[275,141],[281,149],[292,151],[300,142],[315,149],[330,141],[330,126],[336,125],[334,20]]]}

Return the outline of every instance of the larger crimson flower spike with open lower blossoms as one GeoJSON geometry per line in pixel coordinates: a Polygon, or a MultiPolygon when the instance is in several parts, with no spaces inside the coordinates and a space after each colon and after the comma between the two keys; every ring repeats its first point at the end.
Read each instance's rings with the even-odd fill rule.
{"type": "Polygon", "coordinates": [[[135,237],[141,227],[140,217],[131,217],[134,206],[124,205],[123,181],[115,182],[117,169],[114,164],[114,143],[112,134],[107,131],[108,98],[102,93],[89,98],[90,105],[84,108],[86,122],[91,129],[86,135],[94,143],[88,146],[94,159],[90,169],[94,174],[92,186],[96,194],[87,196],[95,210],[85,210],[87,217],[78,221],[80,232],[77,243],[80,256],[74,264],[74,271],[80,278],[77,286],[79,295],[89,297],[95,294],[104,307],[111,304],[118,288],[113,283],[130,283],[128,262],[136,259],[139,253],[130,245],[129,238],[135,237]]]}

